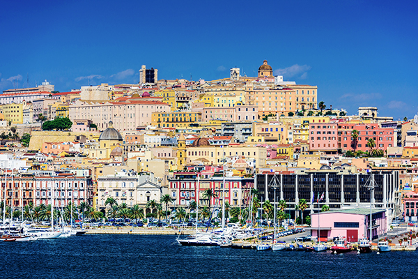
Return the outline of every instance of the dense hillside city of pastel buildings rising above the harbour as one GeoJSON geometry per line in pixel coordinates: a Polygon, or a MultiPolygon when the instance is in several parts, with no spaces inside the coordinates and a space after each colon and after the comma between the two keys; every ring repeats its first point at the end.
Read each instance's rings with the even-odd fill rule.
{"type": "MultiPolygon", "coordinates": [[[[158,80],[142,66],[138,84],[8,89],[1,193],[17,216],[53,196],[56,206],[88,207],[91,218],[116,217],[116,204],[142,218],[199,204],[209,218],[224,200],[231,212],[246,208],[256,189],[257,210],[272,213],[277,194],[304,224],[324,208],[371,204],[387,224],[415,222],[418,116],[396,121],[378,107],[349,115],[320,100],[318,86],[284,81],[268,61],[256,77],[231,68],[221,80],[158,80]]],[[[379,229],[376,237],[388,227],[379,229]]]]}

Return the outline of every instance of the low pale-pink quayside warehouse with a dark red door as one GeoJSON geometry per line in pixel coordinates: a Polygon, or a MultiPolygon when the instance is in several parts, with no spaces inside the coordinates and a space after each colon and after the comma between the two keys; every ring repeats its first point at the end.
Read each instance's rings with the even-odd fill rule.
{"type": "MultiPolygon", "coordinates": [[[[350,242],[369,238],[370,209],[343,209],[311,214],[311,235],[320,234],[320,241],[345,237],[350,242]],[[319,216],[318,216],[319,215],[319,216]],[[319,223],[319,227],[318,227],[319,223]]],[[[372,239],[387,233],[386,211],[373,209],[371,217],[372,239]]]]}

